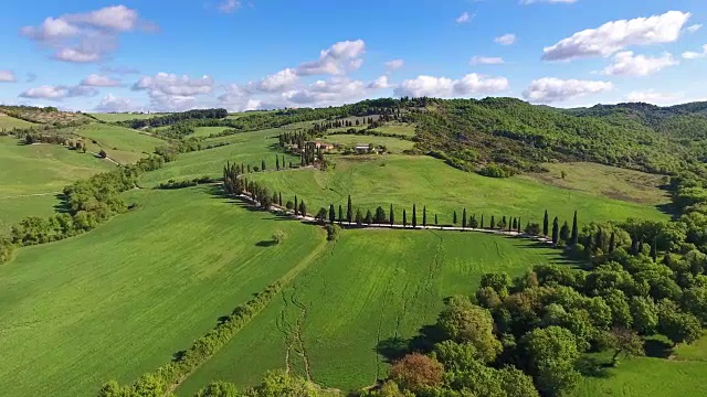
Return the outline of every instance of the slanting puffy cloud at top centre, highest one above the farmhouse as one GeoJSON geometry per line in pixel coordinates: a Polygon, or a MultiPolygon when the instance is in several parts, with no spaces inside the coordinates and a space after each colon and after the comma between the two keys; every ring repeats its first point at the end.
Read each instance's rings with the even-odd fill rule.
{"type": "Polygon", "coordinates": [[[299,76],[310,75],[345,75],[348,71],[361,67],[363,60],[360,56],[366,51],[362,40],[344,41],[323,50],[319,58],[314,62],[305,62],[297,67],[299,76]]]}

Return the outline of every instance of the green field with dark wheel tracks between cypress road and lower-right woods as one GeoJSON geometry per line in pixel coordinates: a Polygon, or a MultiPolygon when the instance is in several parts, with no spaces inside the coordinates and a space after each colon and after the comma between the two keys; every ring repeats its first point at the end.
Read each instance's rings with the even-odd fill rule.
{"type": "MultiPolygon", "coordinates": [[[[178,396],[214,379],[252,385],[265,371],[285,368],[286,346],[296,335],[315,382],[345,390],[372,385],[387,374],[377,346],[434,323],[444,298],[469,293],[484,272],[517,276],[559,260],[557,250],[528,240],[433,230],[344,230],[328,250],[182,384],[178,396]]],[[[299,348],[295,343],[289,368],[305,375],[299,348]]]]}

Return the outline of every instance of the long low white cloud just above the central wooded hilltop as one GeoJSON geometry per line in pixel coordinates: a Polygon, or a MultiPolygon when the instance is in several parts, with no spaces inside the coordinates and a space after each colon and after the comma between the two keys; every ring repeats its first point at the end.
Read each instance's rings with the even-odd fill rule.
{"type": "Polygon", "coordinates": [[[413,79],[407,79],[395,88],[395,96],[450,98],[473,94],[493,94],[506,89],[508,89],[508,79],[505,77],[487,77],[472,73],[461,79],[433,76],[418,76],[413,79]]]}

